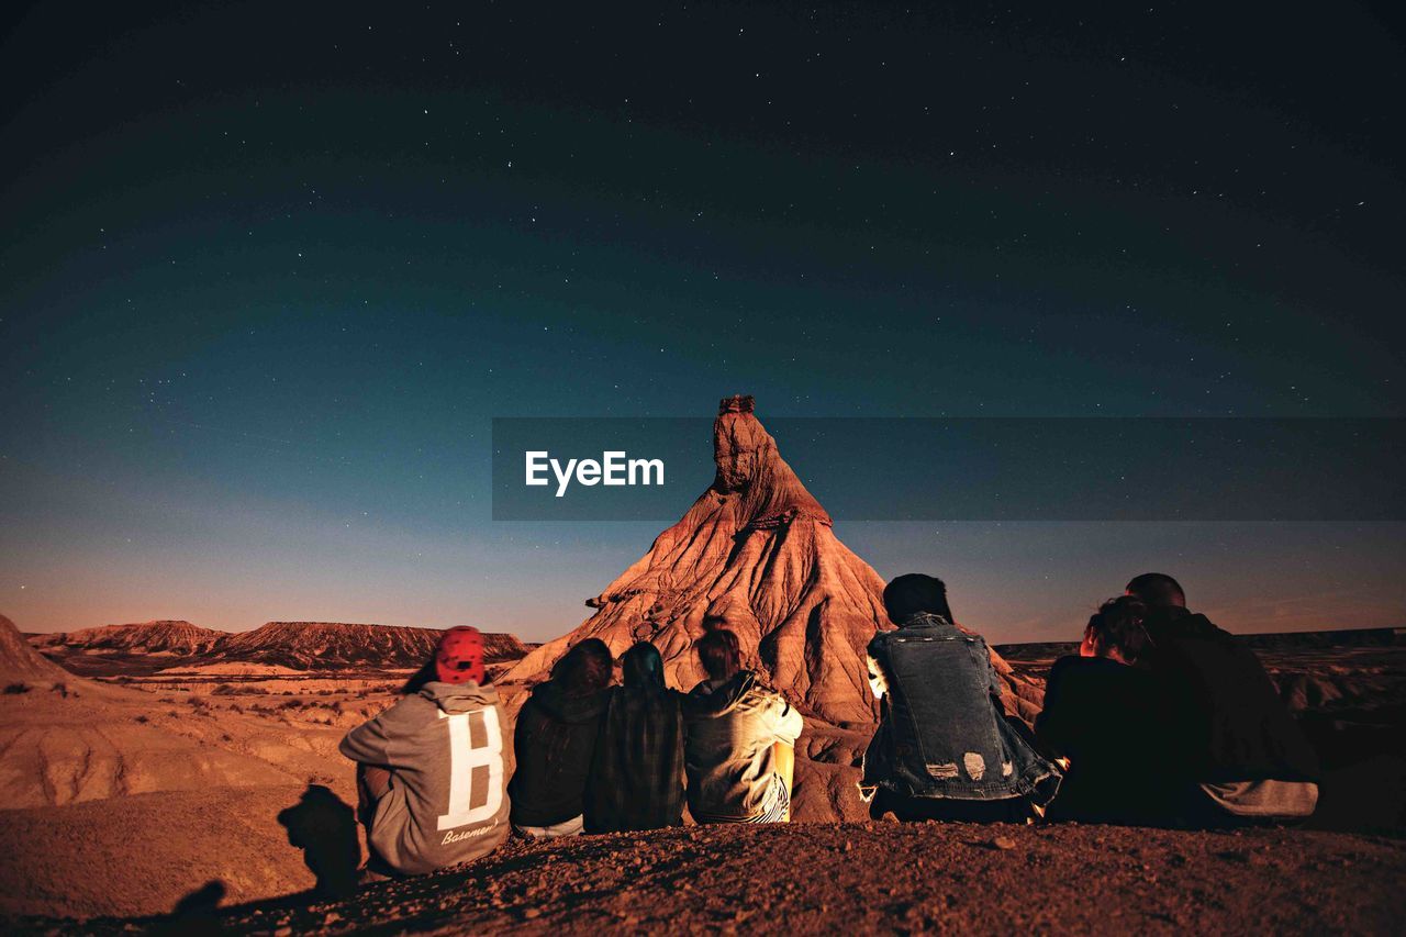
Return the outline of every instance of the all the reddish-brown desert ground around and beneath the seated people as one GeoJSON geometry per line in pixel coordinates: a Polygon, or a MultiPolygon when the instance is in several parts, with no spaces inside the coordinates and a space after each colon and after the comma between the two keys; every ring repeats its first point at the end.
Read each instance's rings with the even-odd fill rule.
{"type": "MultiPolygon", "coordinates": [[[[146,661],[135,677],[7,678],[27,689],[0,696],[11,791],[0,910],[11,930],[94,933],[730,931],[779,920],[801,933],[841,922],[1391,933],[1406,912],[1406,647],[1392,632],[1357,640],[1260,647],[1324,757],[1308,829],[868,822],[858,799],[837,802],[865,734],[811,720],[789,827],[509,844],[467,868],[342,898],[329,889],[364,848],[335,746],[395,699],[408,670],[290,675],[177,660],[146,661]]],[[[1039,682],[1063,649],[1001,650],[1039,682]]],[[[502,685],[510,713],[524,689],[502,685]]]]}

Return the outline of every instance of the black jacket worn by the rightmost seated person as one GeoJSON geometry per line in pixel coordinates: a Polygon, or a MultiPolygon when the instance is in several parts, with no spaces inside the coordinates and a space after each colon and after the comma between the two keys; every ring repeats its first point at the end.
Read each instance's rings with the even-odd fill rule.
{"type": "Polygon", "coordinates": [[[1202,782],[1316,781],[1319,760],[1254,651],[1205,615],[1156,609],[1143,654],[1173,715],[1168,740],[1202,782]]]}

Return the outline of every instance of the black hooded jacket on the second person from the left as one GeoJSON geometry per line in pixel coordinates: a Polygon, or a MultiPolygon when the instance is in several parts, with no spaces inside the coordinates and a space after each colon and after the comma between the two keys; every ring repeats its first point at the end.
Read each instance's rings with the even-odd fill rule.
{"type": "Polygon", "coordinates": [[[517,770],[508,785],[513,823],[551,826],[582,815],[591,758],[609,699],[607,689],[568,696],[554,680],[533,688],[513,732],[517,770]]]}

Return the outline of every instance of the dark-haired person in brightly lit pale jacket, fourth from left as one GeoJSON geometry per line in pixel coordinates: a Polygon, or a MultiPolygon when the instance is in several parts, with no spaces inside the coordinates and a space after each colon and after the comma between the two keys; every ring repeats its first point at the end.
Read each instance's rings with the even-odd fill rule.
{"type": "Polygon", "coordinates": [[[789,750],[804,723],[786,698],[742,668],[737,635],[713,629],[695,644],[707,680],[683,699],[689,812],[699,823],[785,823],[789,750]]]}

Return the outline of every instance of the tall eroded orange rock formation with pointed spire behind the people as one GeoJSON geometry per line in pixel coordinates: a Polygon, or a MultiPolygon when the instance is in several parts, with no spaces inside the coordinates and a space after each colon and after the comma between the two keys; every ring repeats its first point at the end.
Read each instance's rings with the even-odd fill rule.
{"type": "MultiPolygon", "coordinates": [[[[834,533],[830,514],[782,459],[748,395],[725,397],[713,423],[713,484],[640,560],[586,599],[598,609],[579,627],[527,654],[505,681],[541,680],[568,647],[599,637],[614,654],[651,640],[669,681],[688,689],[703,678],[690,653],[710,627],[737,633],[748,667],[763,671],[803,712],[824,720],[872,723],[865,649],[891,627],[884,582],[834,533]]],[[[1038,687],[998,657],[1026,718],[1038,687]]]]}

